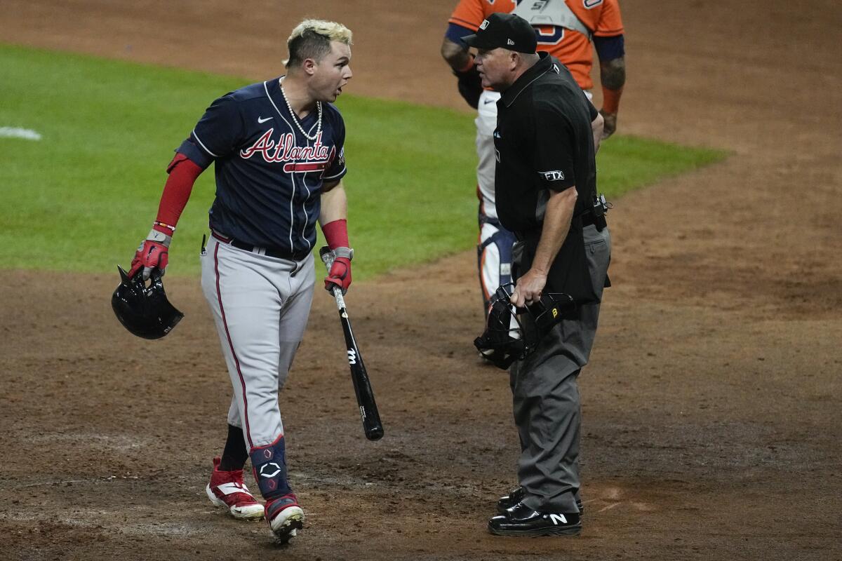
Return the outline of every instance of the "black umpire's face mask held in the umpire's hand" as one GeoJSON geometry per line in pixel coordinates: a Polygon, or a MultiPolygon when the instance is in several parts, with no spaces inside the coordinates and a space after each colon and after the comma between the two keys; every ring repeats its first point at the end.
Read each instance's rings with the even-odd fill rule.
{"type": "Polygon", "coordinates": [[[474,347],[498,368],[509,368],[535,351],[543,336],[573,311],[573,298],[547,293],[535,304],[515,308],[511,303],[514,283],[505,283],[491,297],[485,331],[474,339],[474,347]]]}

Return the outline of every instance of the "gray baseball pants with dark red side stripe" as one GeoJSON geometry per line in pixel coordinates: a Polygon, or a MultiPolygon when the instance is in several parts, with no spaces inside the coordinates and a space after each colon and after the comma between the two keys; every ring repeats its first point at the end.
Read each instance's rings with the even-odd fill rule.
{"type": "Polygon", "coordinates": [[[249,449],[269,445],[284,433],[278,391],[310,315],[313,258],[277,259],[211,238],[201,262],[234,390],[228,423],[242,428],[249,449]]]}

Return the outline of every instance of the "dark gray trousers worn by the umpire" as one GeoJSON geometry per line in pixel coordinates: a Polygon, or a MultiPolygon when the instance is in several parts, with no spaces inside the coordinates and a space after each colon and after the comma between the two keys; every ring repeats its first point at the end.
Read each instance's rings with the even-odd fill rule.
{"type": "MultiPolygon", "coordinates": [[[[611,257],[608,228],[584,228],[590,276],[601,296],[611,257]]],[[[520,436],[518,480],[525,505],[541,512],[578,512],[581,408],[576,380],[594,345],[600,304],[579,306],[525,360],[509,369],[514,424],[520,436]]]]}

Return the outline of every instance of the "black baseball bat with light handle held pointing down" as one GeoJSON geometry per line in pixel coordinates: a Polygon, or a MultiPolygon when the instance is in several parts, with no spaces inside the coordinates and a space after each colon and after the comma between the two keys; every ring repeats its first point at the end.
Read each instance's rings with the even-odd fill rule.
{"type": "MultiPolygon", "coordinates": [[[[333,251],[327,246],[319,250],[319,256],[325,267],[330,271],[333,265],[333,251]]],[[[348,347],[348,365],[351,368],[351,381],[354,383],[354,394],[357,395],[357,405],[360,407],[360,416],[363,421],[363,431],[369,440],[380,440],[383,437],[383,424],[380,421],[380,412],[377,410],[377,403],[374,400],[374,391],[371,389],[371,382],[368,377],[368,370],[365,369],[363,356],[357,341],[354,338],[354,331],[351,329],[351,320],[348,317],[348,310],[345,308],[345,299],[342,289],[333,287],[333,298],[336,299],[336,307],[339,310],[339,320],[342,322],[342,331],[345,334],[345,347],[348,347]]]]}

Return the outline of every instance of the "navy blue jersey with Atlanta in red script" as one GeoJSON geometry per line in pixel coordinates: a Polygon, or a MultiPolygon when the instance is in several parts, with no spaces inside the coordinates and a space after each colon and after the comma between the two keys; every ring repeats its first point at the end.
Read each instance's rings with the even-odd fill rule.
{"type": "MultiPolygon", "coordinates": [[[[322,132],[307,140],[277,78],[216,99],[176,150],[205,169],[216,162],[210,228],[253,246],[310,251],[322,182],[345,175],[345,124],[322,103],[322,132]]],[[[318,111],[301,126],[312,136],[318,111]]]]}

